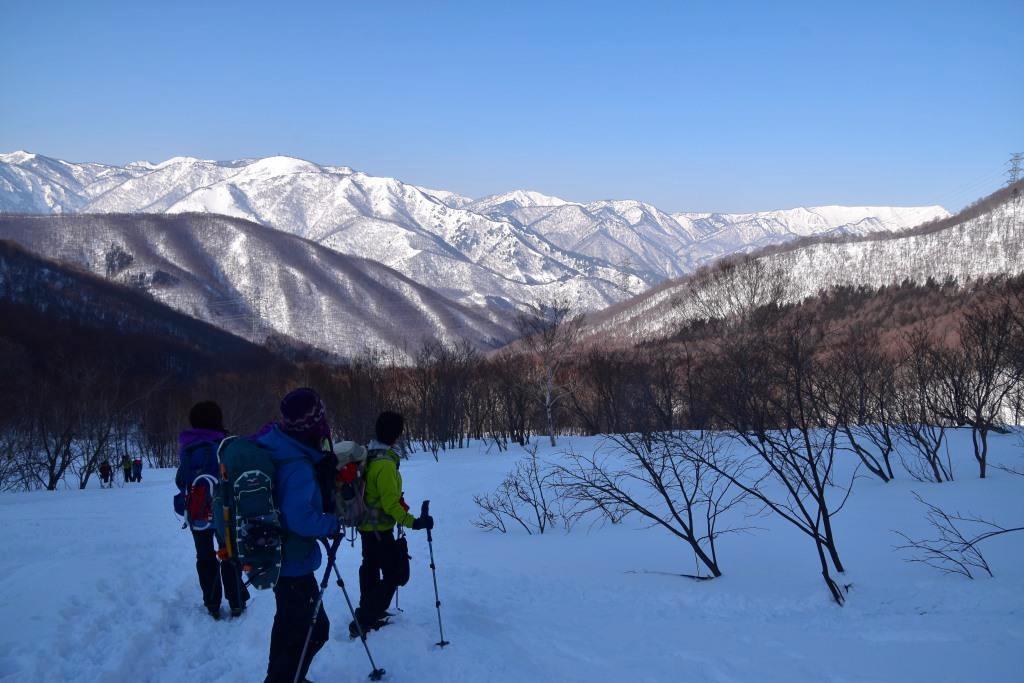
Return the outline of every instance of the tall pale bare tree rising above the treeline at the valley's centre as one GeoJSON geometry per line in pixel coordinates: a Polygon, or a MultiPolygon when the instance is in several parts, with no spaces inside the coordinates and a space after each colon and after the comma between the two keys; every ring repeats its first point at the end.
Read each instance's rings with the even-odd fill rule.
{"type": "Polygon", "coordinates": [[[566,394],[559,373],[569,360],[583,331],[583,314],[571,313],[565,300],[555,299],[535,306],[531,314],[520,314],[516,327],[526,348],[540,364],[537,385],[551,445],[555,446],[555,411],[566,394]]]}

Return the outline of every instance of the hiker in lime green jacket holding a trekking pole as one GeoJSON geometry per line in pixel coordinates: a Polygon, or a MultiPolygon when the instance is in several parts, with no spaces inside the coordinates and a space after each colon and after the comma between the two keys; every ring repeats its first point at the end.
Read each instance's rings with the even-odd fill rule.
{"type": "Polygon", "coordinates": [[[402,497],[399,456],[394,444],[404,429],[404,419],[397,413],[384,412],[377,418],[376,436],[368,450],[366,503],[367,521],[359,526],[362,541],[362,565],[359,567],[359,624],[348,625],[348,635],[356,638],[358,627],[374,631],[383,626],[388,605],[398,586],[409,581],[409,553],[403,526],[433,528],[429,515],[414,517],[402,497]],[[398,539],[394,537],[398,525],[398,539]]]}

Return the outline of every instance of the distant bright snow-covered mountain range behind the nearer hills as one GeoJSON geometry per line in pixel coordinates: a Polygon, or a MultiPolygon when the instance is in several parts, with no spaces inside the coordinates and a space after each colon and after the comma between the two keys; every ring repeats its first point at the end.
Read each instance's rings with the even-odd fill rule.
{"type": "Polygon", "coordinates": [[[669,214],[524,190],[473,200],[289,157],[110,166],[24,152],[0,155],[0,211],[245,218],[379,261],[495,319],[556,295],[596,310],[722,255],[948,215],[938,206],[669,214]]]}

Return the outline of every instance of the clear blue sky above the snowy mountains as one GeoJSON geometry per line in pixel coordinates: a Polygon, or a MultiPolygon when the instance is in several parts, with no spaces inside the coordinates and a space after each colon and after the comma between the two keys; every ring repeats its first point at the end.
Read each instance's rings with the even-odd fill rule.
{"type": "Polygon", "coordinates": [[[1024,151],[1024,2],[11,2],[0,151],[470,196],[945,204],[1024,151]]]}

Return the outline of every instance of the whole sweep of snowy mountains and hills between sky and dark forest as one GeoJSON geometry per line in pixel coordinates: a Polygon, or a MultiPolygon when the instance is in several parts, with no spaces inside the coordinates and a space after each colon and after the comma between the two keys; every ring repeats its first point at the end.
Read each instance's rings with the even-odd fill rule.
{"type": "Polygon", "coordinates": [[[0,239],[253,341],[347,357],[408,360],[427,339],[500,347],[519,312],[555,298],[588,312],[595,338],[671,335],[695,315],[679,305],[694,278],[742,254],[784,270],[790,300],[1018,272],[1012,203],[973,211],[668,213],[525,190],[473,200],[287,157],[110,166],[0,155],[0,239]]]}

